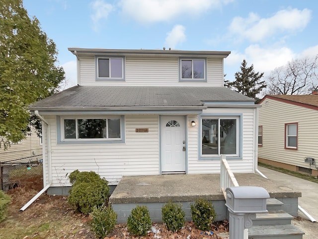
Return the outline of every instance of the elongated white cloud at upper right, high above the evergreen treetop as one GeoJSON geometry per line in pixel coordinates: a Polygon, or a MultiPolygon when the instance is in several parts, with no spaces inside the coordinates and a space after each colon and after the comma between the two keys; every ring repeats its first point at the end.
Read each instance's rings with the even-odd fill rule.
{"type": "Polygon", "coordinates": [[[311,18],[311,10],[288,8],[276,12],[268,18],[260,18],[256,13],[249,13],[247,18],[235,17],[229,26],[230,33],[242,39],[256,42],[280,32],[303,30],[311,18]]]}

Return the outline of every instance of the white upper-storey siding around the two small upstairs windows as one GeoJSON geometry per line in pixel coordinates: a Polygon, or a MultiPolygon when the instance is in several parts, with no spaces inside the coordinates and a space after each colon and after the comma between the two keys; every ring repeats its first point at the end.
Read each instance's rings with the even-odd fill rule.
{"type": "Polygon", "coordinates": [[[125,82],[96,81],[95,57],[80,56],[82,86],[223,86],[223,58],[207,59],[207,82],[179,82],[178,57],[125,57],[125,82]]]}

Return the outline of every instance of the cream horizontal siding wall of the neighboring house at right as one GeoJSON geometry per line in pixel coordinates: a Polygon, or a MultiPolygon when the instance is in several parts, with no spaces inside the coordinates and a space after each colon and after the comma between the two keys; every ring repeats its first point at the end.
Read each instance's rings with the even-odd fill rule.
{"type": "Polygon", "coordinates": [[[263,146],[258,157],[309,168],[306,156],[318,155],[318,111],[272,99],[265,99],[259,110],[263,126],[263,146]],[[298,148],[285,149],[285,123],[298,122],[298,148]]]}

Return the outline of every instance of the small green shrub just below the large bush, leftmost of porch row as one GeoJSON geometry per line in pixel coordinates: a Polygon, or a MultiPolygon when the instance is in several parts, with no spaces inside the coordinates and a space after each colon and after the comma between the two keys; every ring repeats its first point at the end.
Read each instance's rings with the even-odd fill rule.
{"type": "Polygon", "coordinates": [[[109,205],[94,206],[93,211],[90,213],[92,218],[91,231],[95,233],[98,238],[104,238],[111,233],[117,223],[117,214],[109,205]]]}

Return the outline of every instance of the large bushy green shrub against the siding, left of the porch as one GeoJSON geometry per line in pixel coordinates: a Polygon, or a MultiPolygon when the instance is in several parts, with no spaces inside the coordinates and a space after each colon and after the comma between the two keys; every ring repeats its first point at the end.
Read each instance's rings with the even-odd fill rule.
{"type": "Polygon", "coordinates": [[[108,202],[108,182],[95,172],[75,170],[69,178],[73,186],[69,192],[68,203],[76,212],[88,215],[94,206],[99,207],[108,202]]]}

